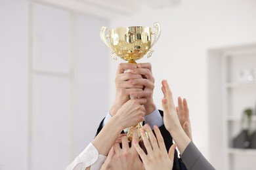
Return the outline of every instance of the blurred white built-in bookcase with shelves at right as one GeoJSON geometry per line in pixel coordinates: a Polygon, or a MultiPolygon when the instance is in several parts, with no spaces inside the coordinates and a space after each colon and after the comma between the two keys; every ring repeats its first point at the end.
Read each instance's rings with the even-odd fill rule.
{"type": "Polygon", "coordinates": [[[253,109],[256,130],[256,44],[209,50],[210,156],[217,169],[255,169],[256,149],[234,148],[242,114],[253,109]]]}

